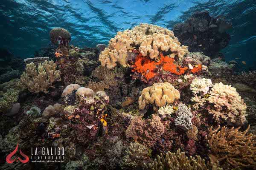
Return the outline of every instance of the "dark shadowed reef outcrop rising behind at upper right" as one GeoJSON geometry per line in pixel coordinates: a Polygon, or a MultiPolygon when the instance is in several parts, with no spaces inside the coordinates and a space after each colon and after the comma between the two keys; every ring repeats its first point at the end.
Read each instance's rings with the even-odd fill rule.
{"type": "Polygon", "coordinates": [[[188,45],[191,52],[202,51],[211,58],[217,58],[222,48],[228,45],[230,35],[226,33],[232,24],[220,18],[210,17],[207,11],[200,11],[173,26],[175,36],[188,45]]]}

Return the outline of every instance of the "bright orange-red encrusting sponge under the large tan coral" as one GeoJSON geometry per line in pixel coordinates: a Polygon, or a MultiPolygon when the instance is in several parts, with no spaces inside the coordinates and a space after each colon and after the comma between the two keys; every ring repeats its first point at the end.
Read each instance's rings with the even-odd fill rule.
{"type": "Polygon", "coordinates": [[[132,65],[132,72],[136,71],[148,80],[157,75],[157,65],[161,65],[164,71],[169,71],[176,75],[184,74],[188,68],[180,67],[176,65],[174,61],[174,58],[163,56],[163,54],[160,54],[160,60],[158,62],[144,57],[142,54],[138,54],[134,65],[132,65]]]}

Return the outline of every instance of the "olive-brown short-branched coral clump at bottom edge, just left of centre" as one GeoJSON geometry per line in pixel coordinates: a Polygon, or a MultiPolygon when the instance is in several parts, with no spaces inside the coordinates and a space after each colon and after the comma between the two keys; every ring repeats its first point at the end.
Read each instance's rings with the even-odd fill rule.
{"type": "Polygon", "coordinates": [[[151,153],[147,147],[138,142],[132,142],[128,149],[125,150],[122,167],[127,167],[127,169],[145,167],[145,164],[151,161],[150,156],[151,153]]]}

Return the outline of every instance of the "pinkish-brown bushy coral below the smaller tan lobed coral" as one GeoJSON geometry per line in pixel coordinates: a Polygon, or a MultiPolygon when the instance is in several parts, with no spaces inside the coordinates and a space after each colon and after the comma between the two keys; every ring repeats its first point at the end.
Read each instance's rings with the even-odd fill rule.
{"type": "Polygon", "coordinates": [[[151,119],[143,120],[142,116],[135,116],[125,131],[126,137],[144,144],[148,148],[153,147],[158,138],[164,133],[165,127],[161,118],[152,115],[151,119]]]}

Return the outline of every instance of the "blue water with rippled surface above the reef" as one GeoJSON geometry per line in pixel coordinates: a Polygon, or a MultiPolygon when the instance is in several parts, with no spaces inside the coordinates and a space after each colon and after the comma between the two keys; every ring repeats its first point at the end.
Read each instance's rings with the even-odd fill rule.
{"type": "Polygon", "coordinates": [[[226,60],[241,57],[236,59],[241,68],[255,69],[256,0],[1,0],[0,47],[32,57],[49,44],[54,27],[70,31],[70,44],[95,47],[139,23],[171,29],[203,10],[233,23],[230,45],[223,50],[226,60]]]}

